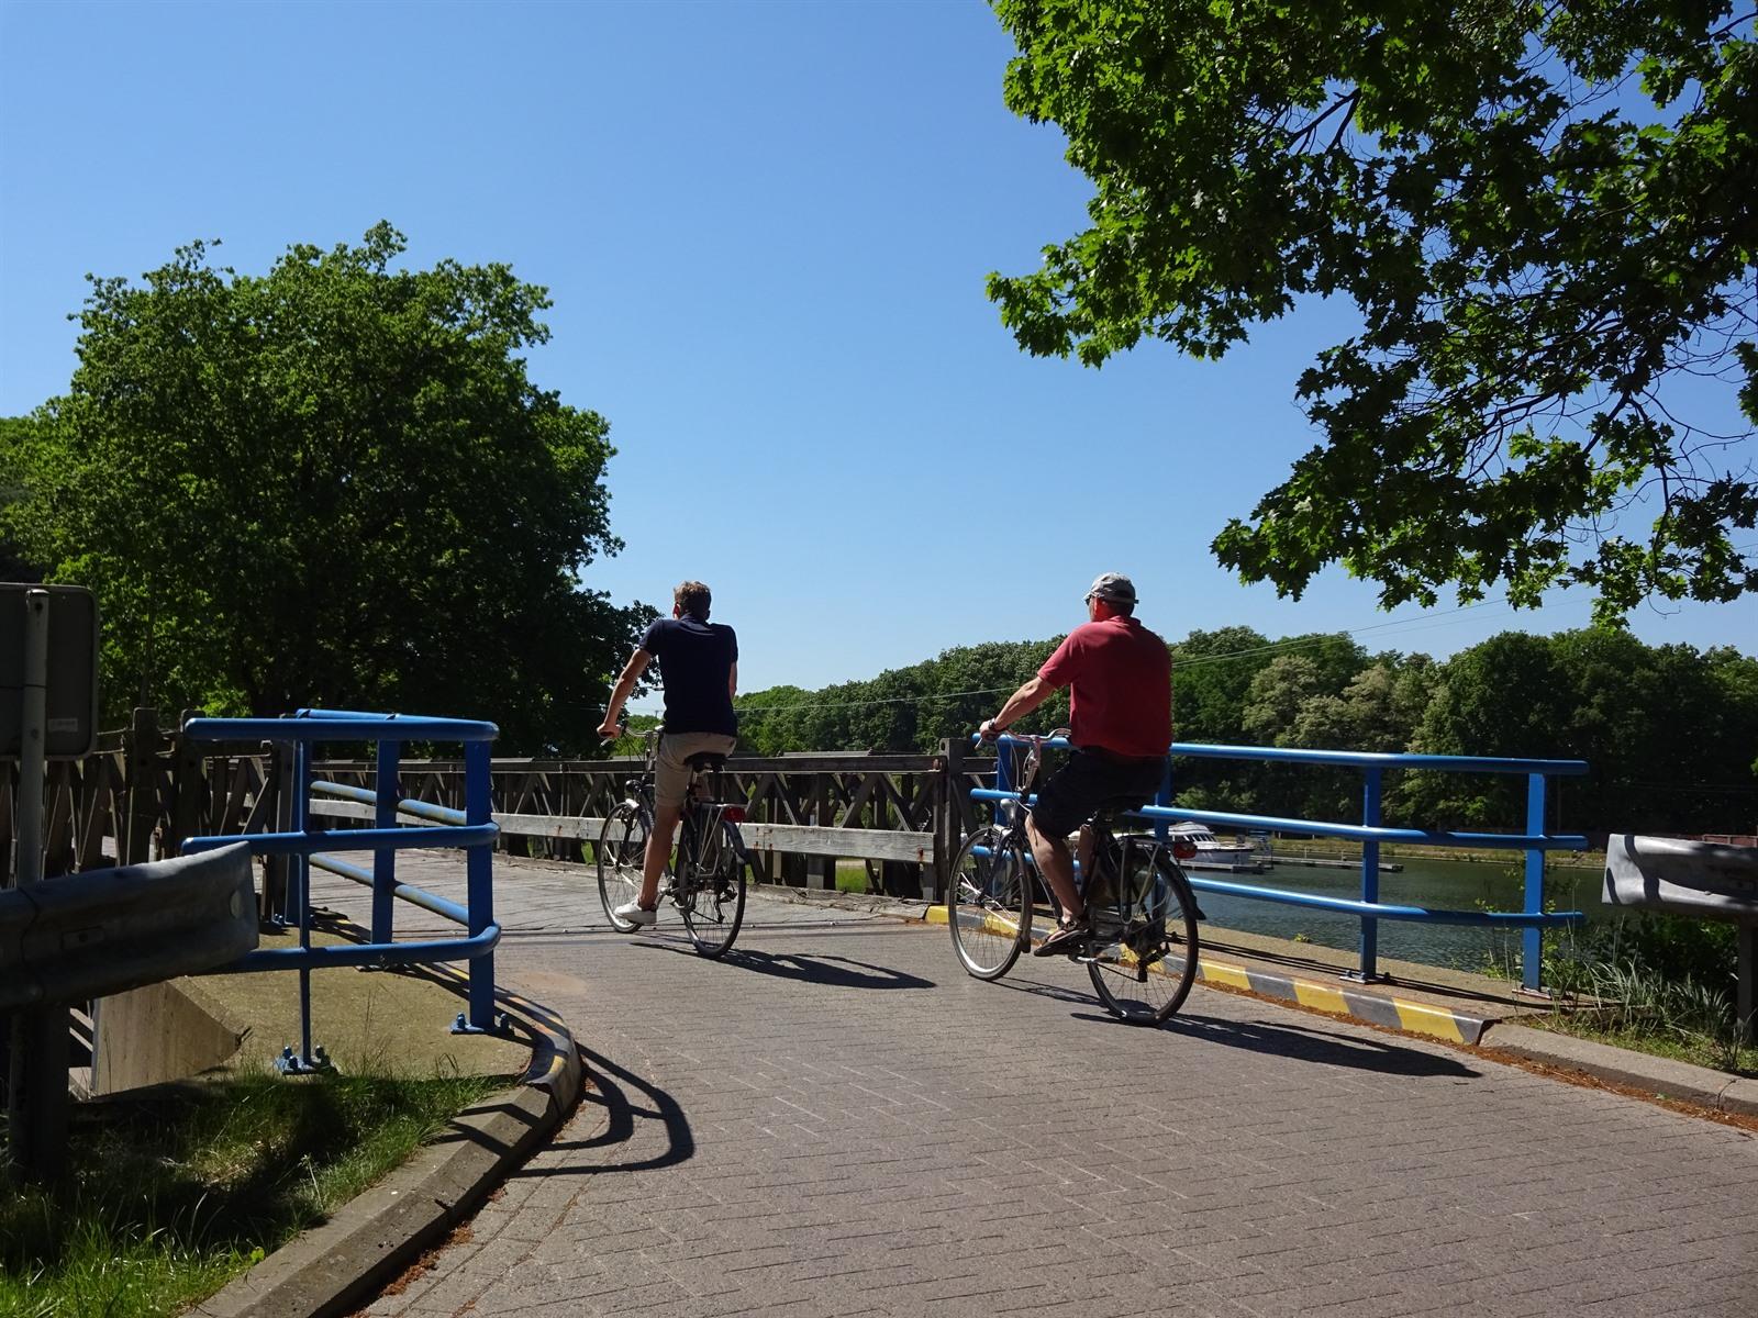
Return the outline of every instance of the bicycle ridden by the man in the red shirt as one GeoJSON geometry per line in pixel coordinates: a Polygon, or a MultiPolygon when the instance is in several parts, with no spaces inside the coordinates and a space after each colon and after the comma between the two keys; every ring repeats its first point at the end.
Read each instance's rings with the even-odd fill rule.
{"type": "MultiPolygon", "coordinates": [[[[1000,979],[1032,944],[1032,914],[1048,905],[1053,919],[1062,907],[1037,873],[1025,821],[1037,791],[1048,742],[1065,738],[1007,733],[1025,745],[1020,800],[1000,801],[1007,821],[979,828],[958,851],[946,884],[946,923],[953,951],[977,979],[1000,979]],[[1042,902],[1034,902],[1034,887],[1042,902]]],[[[1007,754],[1000,747],[999,754],[1007,754]]],[[[1088,822],[1092,873],[1081,873],[1081,896],[1092,933],[1069,949],[1086,965],[1093,991],[1106,1010],[1132,1025],[1160,1025],[1176,1012],[1197,972],[1197,902],[1178,865],[1174,845],[1153,835],[1116,835],[1113,815],[1139,810],[1146,798],[1104,801],[1088,822]]],[[[1190,847],[1188,854],[1194,854],[1190,847]]],[[[1188,854],[1185,856],[1188,859],[1188,854]]]]}

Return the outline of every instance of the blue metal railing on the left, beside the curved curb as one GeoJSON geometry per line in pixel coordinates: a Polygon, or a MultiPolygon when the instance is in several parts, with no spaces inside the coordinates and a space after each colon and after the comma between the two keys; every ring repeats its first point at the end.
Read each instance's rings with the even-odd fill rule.
{"type": "MultiPolygon", "coordinates": [[[[250,833],[244,836],[186,838],[183,852],[213,851],[234,842],[250,844],[253,856],[292,856],[288,873],[288,905],[297,912],[299,945],[255,951],[218,974],[244,970],[297,970],[301,1054],[292,1049],[283,1054],[285,1070],[315,1070],[327,1065],[322,1049],[311,1044],[311,972],[329,967],[389,967],[429,965],[436,961],[469,961],[469,1009],[461,1012],[457,1032],[499,1032],[501,1019],[494,1012],[494,947],[501,940],[501,926],[494,923],[494,840],[499,826],[492,821],[490,750],[499,729],[492,722],[471,719],[429,719],[399,713],[362,713],[355,710],[301,710],[292,719],[192,719],[183,735],[199,742],[281,742],[294,745],[294,782],[290,784],[292,821],[287,833],[250,833]],[[313,829],[311,780],[313,745],[318,742],[376,742],[378,791],[364,791],[374,805],[373,828],[313,829]],[[427,817],[440,822],[420,828],[397,824],[399,807],[413,807],[399,800],[397,766],[404,742],[462,742],[464,743],[464,810],[427,807],[427,817]],[[406,847],[461,847],[464,849],[466,905],[425,893],[420,887],[397,882],[396,854],[406,847]],[[320,852],[369,851],[373,870],[362,870],[320,852]],[[373,889],[371,942],[331,947],[311,945],[311,866],[343,873],[373,889]],[[445,919],[462,924],[468,937],[422,942],[396,942],[394,903],[411,902],[445,919]]],[[[329,784],[325,784],[329,786],[329,784]]]]}

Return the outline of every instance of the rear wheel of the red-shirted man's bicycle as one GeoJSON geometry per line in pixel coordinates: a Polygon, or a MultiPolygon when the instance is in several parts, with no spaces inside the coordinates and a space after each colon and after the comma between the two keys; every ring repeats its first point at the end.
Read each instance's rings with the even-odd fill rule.
{"type": "Polygon", "coordinates": [[[1108,942],[1093,944],[1086,972],[1099,1002],[1130,1025],[1160,1025],[1190,993],[1197,974],[1197,900],[1171,852],[1123,847],[1118,898],[1093,912],[1108,942]]]}

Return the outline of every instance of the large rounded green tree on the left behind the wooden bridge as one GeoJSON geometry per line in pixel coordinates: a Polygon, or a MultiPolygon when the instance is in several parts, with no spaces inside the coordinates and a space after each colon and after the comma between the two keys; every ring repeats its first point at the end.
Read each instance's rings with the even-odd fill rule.
{"type": "Polygon", "coordinates": [[[79,366],[18,445],[5,524],[97,590],[111,717],[304,705],[490,717],[587,749],[642,608],[580,573],[608,425],[531,383],[543,288],[506,265],[392,269],[290,248],[265,276],[181,248],[95,278],[79,366]]]}

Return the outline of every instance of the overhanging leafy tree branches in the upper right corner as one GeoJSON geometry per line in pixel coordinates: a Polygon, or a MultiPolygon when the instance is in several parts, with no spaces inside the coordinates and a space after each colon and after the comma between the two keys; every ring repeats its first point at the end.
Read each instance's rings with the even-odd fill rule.
{"type": "Polygon", "coordinates": [[[1580,585],[1600,622],[1758,587],[1749,9],[995,11],[1007,105],[1097,188],[1041,269],[990,276],[1025,350],[1220,357],[1304,297],[1359,313],[1296,385],[1322,443],[1222,564],[1299,596],[1341,562],[1385,606],[1580,585]]]}

